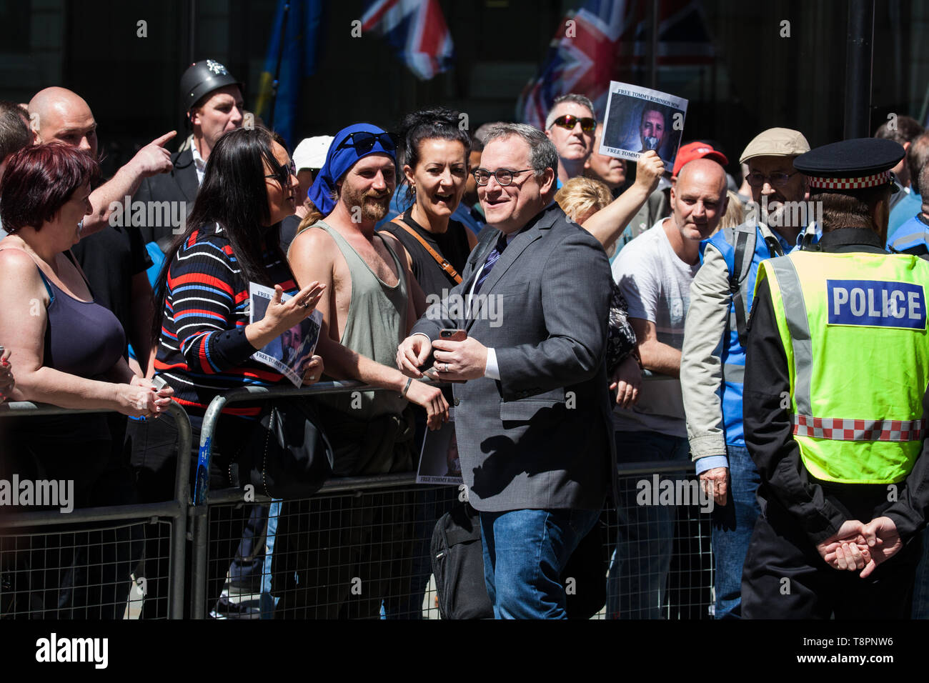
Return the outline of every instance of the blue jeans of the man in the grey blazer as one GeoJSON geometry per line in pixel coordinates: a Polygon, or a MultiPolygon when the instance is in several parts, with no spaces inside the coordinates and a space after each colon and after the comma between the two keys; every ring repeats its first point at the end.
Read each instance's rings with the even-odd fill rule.
{"type": "Polygon", "coordinates": [[[497,619],[567,619],[561,572],[599,510],[481,512],[484,583],[497,619]]]}

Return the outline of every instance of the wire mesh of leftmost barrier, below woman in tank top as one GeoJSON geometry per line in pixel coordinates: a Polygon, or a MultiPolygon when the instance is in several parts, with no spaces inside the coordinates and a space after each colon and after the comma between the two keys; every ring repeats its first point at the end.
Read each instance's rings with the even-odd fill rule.
{"type": "Polygon", "coordinates": [[[144,576],[145,539],[167,558],[171,524],[154,519],[3,530],[0,619],[139,618],[149,584],[168,582],[166,574],[144,576]]]}

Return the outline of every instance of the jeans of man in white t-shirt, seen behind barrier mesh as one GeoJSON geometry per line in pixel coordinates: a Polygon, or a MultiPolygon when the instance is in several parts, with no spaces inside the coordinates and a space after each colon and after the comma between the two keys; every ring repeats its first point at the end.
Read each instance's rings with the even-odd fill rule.
{"type": "MultiPolygon", "coordinates": [[[[616,432],[616,457],[622,462],[682,463],[684,471],[690,447],[685,437],[658,432],[616,432]]],[[[616,506],[619,519],[616,552],[609,563],[607,616],[610,619],[661,619],[667,591],[668,570],[674,545],[677,507],[639,505],[636,479],[622,477],[616,506]]],[[[676,480],[664,475],[660,478],[676,480]]],[[[647,497],[648,498],[648,497],[647,497]]]]}

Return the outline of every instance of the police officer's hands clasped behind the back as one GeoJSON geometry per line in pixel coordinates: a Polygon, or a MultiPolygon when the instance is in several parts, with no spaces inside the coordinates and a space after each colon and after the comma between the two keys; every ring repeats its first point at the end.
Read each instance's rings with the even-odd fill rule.
{"type": "Polygon", "coordinates": [[[879,564],[894,557],[903,547],[903,541],[896,532],[896,524],[889,517],[878,517],[867,524],[848,519],[838,533],[816,547],[819,556],[831,568],[862,570],[859,576],[865,579],[879,564]]]}

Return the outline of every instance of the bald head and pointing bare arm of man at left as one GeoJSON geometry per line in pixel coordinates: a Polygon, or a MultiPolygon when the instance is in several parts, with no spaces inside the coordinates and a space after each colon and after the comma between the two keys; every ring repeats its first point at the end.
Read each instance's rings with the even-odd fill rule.
{"type": "MultiPolygon", "coordinates": [[[[29,117],[36,142],[63,142],[97,158],[97,121],[85,100],[63,87],[46,87],[29,102],[29,117]]],[[[104,183],[90,193],[94,211],[85,217],[81,235],[103,230],[110,220],[110,205],[122,204],[126,195],[135,194],[142,178],[171,170],[171,154],[164,144],[177,135],[166,133],[137,151],[136,155],[104,183]]]]}

